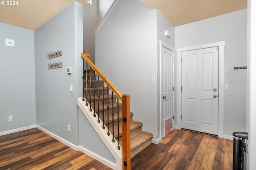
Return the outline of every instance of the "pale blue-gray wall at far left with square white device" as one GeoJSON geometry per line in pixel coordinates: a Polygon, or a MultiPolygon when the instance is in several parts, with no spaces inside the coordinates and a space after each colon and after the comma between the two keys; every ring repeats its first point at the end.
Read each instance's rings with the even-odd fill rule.
{"type": "Polygon", "coordinates": [[[35,125],[34,31],[0,23],[0,68],[0,132],[35,125]]]}

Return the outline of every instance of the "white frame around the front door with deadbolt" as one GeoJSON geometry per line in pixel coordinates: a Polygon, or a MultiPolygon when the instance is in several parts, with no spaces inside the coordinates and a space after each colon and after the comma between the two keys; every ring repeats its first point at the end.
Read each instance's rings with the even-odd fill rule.
{"type": "Polygon", "coordinates": [[[192,47],[184,47],[176,49],[175,55],[175,67],[176,67],[176,76],[175,76],[175,111],[174,111],[174,121],[175,128],[181,129],[181,53],[182,51],[190,51],[196,49],[205,49],[210,47],[219,47],[219,104],[218,104],[218,137],[223,138],[224,132],[224,45],[225,41],[217,43],[209,43],[204,45],[196,45],[192,47]]]}

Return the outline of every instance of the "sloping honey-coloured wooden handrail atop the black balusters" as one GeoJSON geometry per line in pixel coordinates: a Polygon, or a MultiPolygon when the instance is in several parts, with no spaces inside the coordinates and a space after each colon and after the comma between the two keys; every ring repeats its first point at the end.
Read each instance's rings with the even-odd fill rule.
{"type": "Polygon", "coordinates": [[[81,54],[81,57],[85,59],[85,61],[92,67],[92,69],[100,76],[100,78],[108,85],[108,87],[116,94],[116,96],[122,101],[122,94],[115,88],[115,86],[98,70],[98,68],[88,59],[89,54],[84,51],[84,53],[81,54]]]}

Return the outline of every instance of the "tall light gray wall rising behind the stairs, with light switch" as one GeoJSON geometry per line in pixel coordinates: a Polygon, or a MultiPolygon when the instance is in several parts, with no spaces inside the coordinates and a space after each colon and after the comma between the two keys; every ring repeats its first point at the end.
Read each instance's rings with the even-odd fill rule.
{"type": "Polygon", "coordinates": [[[118,0],[95,32],[96,66],[122,94],[130,94],[133,118],[143,123],[142,130],[153,133],[153,141],[160,137],[160,39],[174,46],[174,27],[139,0],[118,0]],[[166,39],[166,29],[173,39],[166,39]]]}

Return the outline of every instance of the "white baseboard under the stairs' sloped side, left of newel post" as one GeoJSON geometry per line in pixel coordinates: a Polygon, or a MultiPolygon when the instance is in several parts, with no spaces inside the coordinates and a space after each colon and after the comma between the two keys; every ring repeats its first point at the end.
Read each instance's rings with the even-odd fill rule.
{"type": "Polygon", "coordinates": [[[105,164],[106,166],[108,166],[112,169],[116,169],[116,164],[114,164],[113,162],[110,162],[109,160],[106,160],[105,158],[95,154],[94,152],[91,152],[90,150],[87,150],[87,149],[85,149],[84,147],[81,147],[81,146],[78,146],[78,150],[80,150],[84,154],[87,154],[88,156],[91,156],[92,158],[98,160],[102,164],[105,164]]]}

